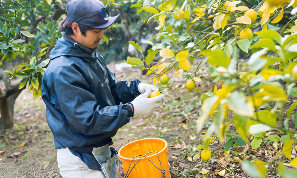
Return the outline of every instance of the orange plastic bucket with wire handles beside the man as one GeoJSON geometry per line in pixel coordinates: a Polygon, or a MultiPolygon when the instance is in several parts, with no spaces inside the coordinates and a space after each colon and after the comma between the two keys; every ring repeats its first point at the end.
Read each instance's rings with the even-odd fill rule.
{"type": "MultiPolygon", "coordinates": [[[[123,147],[121,147],[119,149],[119,159],[122,162],[125,174],[127,174],[128,169],[129,174],[132,167],[138,161],[138,163],[135,165],[135,167],[129,174],[128,178],[161,178],[162,173],[159,170],[161,169],[161,166],[162,170],[167,169],[169,171],[167,149],[168,143],[164,139],[140,139],[133,142],[129,142],[129,144],[126,144],[123,147]],[[157,151],[158,153],[151,151],[157,151]],[[145,155],[146,157],[137,155],[145,155]],[[137,157],[134,158],[135,156],[137,157]],[[149,160],[151,160],[159,169],[157,169],[149,160]]],[[[168,171],[165,171],[166,178],[170,177],[168,171]]]]}

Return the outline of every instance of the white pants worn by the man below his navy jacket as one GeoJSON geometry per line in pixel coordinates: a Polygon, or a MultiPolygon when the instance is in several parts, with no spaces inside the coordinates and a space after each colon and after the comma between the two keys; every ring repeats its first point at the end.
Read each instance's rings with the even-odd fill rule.
{"type": "Polygon", "coordinates": [[[89,169],[89,167],[68,148],[58,149],[58,167],[63,178],[105,178],[102,171],[89,169]]]}

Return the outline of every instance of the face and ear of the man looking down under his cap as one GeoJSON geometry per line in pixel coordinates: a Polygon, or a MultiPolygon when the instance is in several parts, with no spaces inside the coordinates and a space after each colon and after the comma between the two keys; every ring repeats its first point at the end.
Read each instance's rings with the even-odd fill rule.
{"type": "Polygon", "coordinates": [[[79,33],[76,35],[75,41],[87,48],[95,48],[97,47],[103,36],[103,30],[95,28],[93,30],[87,30],[85,36],[83,36],[79,31],[79,33]]]}

